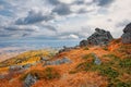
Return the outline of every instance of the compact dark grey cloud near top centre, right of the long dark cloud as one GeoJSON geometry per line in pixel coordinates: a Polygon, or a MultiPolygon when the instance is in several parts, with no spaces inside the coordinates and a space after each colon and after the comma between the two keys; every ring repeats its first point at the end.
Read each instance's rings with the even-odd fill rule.
{"type": "Polygon", "coordinates": [[[70,5],[61,3],[59,5],[56,5],[55,9],[52,10],[52,13],[57,13],[59,15],[68,15],[71,14],[70,5]]]}

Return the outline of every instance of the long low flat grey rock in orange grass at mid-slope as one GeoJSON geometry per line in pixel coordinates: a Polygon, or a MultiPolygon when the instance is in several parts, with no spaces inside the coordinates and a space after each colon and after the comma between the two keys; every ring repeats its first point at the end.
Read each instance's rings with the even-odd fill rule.
{"type": "Polygon", "coordinates": [[[58,59],[55,61],[46,61],[45,65],[60,65],[60,64],[64,64],[64,63],[71,63],[72,61],[69,58],[62,58],[62,59],[58,59]]]}

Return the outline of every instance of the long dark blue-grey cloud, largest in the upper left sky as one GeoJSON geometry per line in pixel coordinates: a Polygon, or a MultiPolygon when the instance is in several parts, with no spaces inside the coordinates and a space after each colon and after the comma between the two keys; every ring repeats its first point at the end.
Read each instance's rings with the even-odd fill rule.
{"type": "Polygon", "coordinates": [[[34,10],[28,12],[28,15],[24,18],[17,18],[15,24],[17,25],[26,25],[26,24],[35,24],[39,22],[48,22],[52,20],[53,16],[51,14],[43,14],[43,12],[35,12],[34,10]]]}

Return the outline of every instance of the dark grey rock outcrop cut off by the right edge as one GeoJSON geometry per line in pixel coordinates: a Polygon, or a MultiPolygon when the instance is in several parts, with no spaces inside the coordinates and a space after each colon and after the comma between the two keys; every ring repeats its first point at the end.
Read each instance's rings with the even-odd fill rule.
{"type": "Polygon", "coordinates": [[[131,23],[124,27],[121,39],[123,44],[131,44],[131,23]]]}

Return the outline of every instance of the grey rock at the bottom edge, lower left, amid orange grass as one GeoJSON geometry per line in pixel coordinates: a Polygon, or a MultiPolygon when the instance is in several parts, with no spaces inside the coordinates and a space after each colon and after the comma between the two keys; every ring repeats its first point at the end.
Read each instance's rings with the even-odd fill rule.
{"type": "Polygon", "coordinates": [[[28,74],[24,79],[24,87],[31,87],[37,82],[37,77],[28,74]]]}

